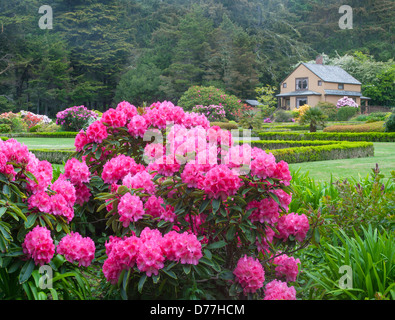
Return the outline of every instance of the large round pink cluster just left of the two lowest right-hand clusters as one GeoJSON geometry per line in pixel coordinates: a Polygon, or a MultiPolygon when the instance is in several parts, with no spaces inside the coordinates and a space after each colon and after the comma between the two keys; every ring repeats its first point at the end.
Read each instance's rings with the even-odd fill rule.
{"type": "Polygon", "coordinates": [[[255,293],[263,287],[265,281],[265,270],[261,263],[258,259],[247,257],[247,255],[239,259],[233,274],[236,277],[236,282],[242,286],[244,293],[255,293]]]}

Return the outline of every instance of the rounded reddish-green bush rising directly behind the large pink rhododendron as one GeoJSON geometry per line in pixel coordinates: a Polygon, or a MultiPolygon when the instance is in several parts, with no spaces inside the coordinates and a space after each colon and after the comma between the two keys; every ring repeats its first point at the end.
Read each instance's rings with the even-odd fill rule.
{"type": "Polygon", "coordinates": [[[235,119],[235,113],[242,107],[241,100],[213,86],[192,86],[178,100],[178,105],[185,111],[191,111],[197,105],[222,105],[226,118],[235,119]]]}

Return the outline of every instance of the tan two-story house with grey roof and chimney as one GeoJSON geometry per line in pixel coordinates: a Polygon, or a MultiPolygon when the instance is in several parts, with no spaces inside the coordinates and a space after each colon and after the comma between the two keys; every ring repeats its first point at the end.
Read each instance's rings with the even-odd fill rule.
{"type": "Polygon", "coordinates": [[[324,65],[318,56],[316,63],[300,63],[281,82],[277,95],[279,107],[293,110],[308,104],[314,107],[320,101],[337,101],[344,96],[364,105],[370,98],[362,96],[361,82],[337,66],[324,65]]]}

